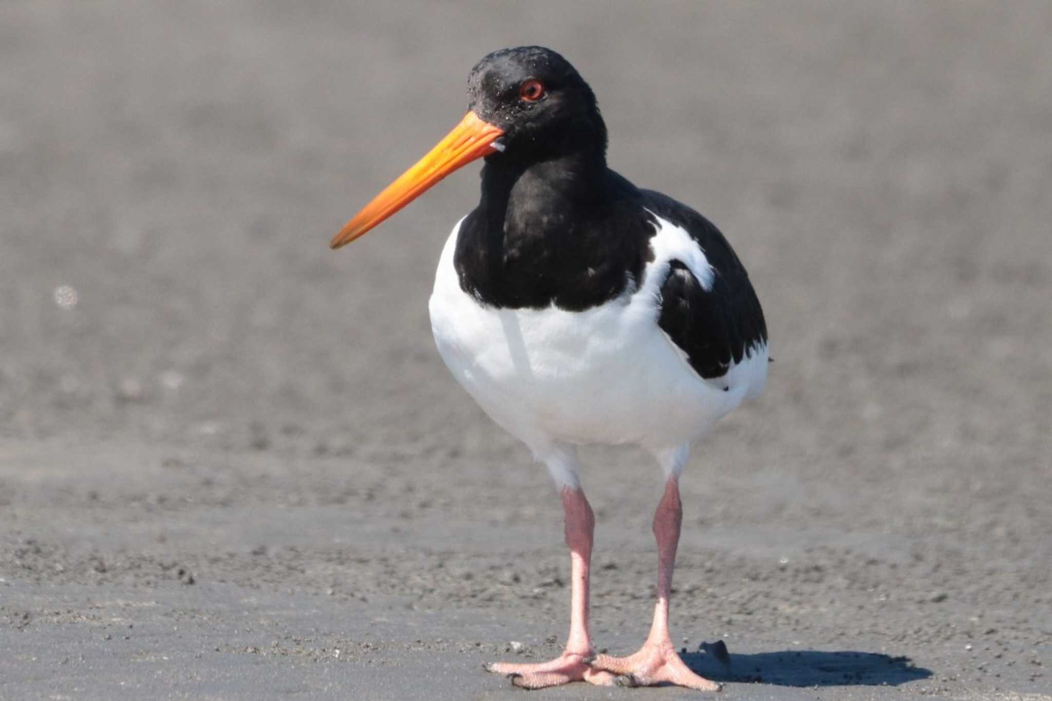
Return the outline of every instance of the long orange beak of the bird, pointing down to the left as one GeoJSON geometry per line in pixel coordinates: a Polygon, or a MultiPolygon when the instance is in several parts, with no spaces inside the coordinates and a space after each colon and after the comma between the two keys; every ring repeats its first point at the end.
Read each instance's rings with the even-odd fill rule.
{"type": "Polygon", "coordinates": [[[387,185],[384,192],[355,215],[340,233],[332,237],[329,246],[339,248],[380,224],[392,214],[424,194],[428,187],[439,182],[457,168],[467,165],[477,158],[488,156],[495,151],[492,143],[504,132],[482,121],[474,112],[464,115],[461,123],[446,135],[434,148],[417,161],[417,164],[387,185]]]}

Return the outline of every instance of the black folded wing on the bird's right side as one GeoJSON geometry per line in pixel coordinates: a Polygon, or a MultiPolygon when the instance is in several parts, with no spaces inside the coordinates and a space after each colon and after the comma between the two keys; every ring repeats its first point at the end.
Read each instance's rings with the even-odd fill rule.
{"type": "Polygon", "coordinates": [[[641,192],[648,209],[690,234],[715,273],[712,289],[706,291],[682,261],[673,260],[661,288],[658,324],[699,375],[722,377],[753,344],[767,342],[764,311],[749,274],[712,222],[661,193],[641,192]]]}

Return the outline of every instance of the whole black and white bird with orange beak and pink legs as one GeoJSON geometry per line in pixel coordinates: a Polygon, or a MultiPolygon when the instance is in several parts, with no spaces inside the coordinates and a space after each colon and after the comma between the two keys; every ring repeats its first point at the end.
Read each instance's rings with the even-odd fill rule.
{"type": "Polygon", "coordinates": [[[611,171],[606,145],[595,96],[566,59],[540,46],[494,52],[468,77],[461,123],[331,246],[485,159],[479,205],[453,226],[439,260],[431,328],[457,380],[548,467],[571,564],[564,653],[487,668],[530,688],[584,680],[714,690],[681,660],[668,630],[679,477],[691,443],[764,388],[767,327],[720,231],[611,171]],[[594,517],[575,455],[588,443],[642,446],[664,472],[653,623],[623,658],[595,655],[588,633],[594,517]]]}

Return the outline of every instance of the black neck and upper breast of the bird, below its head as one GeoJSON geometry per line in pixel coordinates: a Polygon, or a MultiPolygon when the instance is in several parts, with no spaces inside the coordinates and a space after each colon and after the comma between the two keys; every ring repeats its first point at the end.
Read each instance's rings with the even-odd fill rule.
{"type": "Polygon", "coordinates": [[[642,272],[652,229],[639,203],[601,148],[528,163],[490,157],[458,236],[461,286],[501,307],[602,304],[642,272]]]}

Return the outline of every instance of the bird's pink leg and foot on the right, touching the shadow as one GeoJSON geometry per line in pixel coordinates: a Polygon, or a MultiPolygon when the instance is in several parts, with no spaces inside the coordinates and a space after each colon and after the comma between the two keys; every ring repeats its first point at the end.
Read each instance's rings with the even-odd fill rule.
{"type": "Polygon", "coordinates": [[[683,507],[680,503],[680,483],[674,475],[665,484],[665,494],[654,514],[654,538],[658,540],[658,604],[650,635],[638,653],[628,657],[600,655],[592,662],[596,669],[622,675],[630,686],[649,686],[671,683],[702,692],[717,692],[720,684],[700,677],[690,670],[672,645],[668,633],[668,600],[672,594],[672,568],[675,549],[680,544],[680,525],[683,507]]]}

